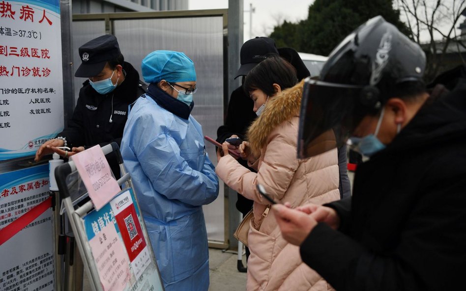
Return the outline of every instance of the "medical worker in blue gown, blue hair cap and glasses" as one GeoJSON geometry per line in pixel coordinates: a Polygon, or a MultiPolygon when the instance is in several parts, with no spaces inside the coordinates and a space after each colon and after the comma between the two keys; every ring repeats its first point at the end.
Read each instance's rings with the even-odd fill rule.
{"type": "Polygon", "coordinates": [[[166,291],[207,291],[209,258],[202,206],[218,195],[201,125],[190,115],[194,63],[155,51],[142,62],[149,84],[131,108],[121,154],[132,176],[166,291]]]}

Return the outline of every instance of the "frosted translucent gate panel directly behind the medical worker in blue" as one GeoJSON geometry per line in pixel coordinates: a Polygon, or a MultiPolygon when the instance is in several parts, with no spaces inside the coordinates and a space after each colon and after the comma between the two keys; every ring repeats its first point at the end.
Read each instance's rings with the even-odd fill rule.
{"type": "MultiPolygon", "coordinates": [[[[217,137],[223,124],[223,18],[186,17],[116,20],[113,23],[125,60],[140,73],[141,61],[155,50],[183,52],[194,61],[198,91],[192,115],[203,126],[204,135],[217,137]]],[[[205,143],[209,158],[217,164],[215,148],[205,143]]],[[[224,186],[218,198],[204,206],[209,240],[225,240],[224,186]]]]}

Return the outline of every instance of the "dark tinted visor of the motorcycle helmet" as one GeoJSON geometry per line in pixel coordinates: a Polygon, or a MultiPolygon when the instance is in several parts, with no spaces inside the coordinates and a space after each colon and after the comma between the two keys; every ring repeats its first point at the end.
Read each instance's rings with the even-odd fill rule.
{"type": "Polygon", "coordinates": [[[298,158],[320,155],[340,148],[363,114],[354,110],[354,96],[362,86],[306,79],[298,131],[298,158]]]}

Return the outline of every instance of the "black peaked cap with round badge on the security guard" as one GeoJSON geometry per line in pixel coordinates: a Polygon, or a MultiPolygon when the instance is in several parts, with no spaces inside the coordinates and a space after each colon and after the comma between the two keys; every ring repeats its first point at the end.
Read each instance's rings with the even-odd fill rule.
{"type": "Polygon", "coordinates": [[[88,41],[79,48],[81,65],[74,74],[75,77],[89,78],[97,76],[105,67],[107,61],[120,55],[117,38],[106,34],[88,41]]]}

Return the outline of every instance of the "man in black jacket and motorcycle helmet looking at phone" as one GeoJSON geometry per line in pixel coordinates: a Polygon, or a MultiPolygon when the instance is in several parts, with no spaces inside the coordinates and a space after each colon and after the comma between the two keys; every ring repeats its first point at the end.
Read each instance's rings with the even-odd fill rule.
{"type": "Polygon", "coordinates": [[[272,209],[284,238],[337,291],[464,289],[466,69],[426,89],[425,62],[378,16],[334,49],[320,80],[307,80],[298,155],[348,141],[370,159],[351,199],[272,209]]]}

